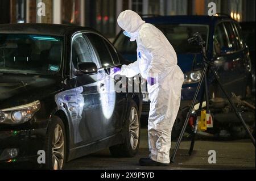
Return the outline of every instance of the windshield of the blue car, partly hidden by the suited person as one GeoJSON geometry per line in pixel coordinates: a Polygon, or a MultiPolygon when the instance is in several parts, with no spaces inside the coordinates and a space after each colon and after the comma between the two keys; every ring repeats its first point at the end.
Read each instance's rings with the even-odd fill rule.
{"type": "MultiPolygon", "coordinates": [[[[208,40],[209,26],[203,24],[156,24],[174,47],[177,54],[199,53],[200,48],[188,44],[188,38],[193,33],[200,32],[203,39],[208,40]]],[[[129,37],[122,33],[114,43],[121,54],[137,54],[136,41],[130,41],[129,37]]]]}

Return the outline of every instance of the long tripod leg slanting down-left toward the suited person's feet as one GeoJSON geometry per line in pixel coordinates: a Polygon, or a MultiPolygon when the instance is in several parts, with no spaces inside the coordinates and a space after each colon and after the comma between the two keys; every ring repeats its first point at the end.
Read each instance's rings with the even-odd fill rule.
{"type": "Polygon", "coordinates": [[[202,77],[201,77],[201,79],[200,79],[199,85],[197,86],[196,93],[195,93],[195,96],[194,96],[194,98],[193,98],[191,107],[189,108],[189,112],[188,112],[187,117],[186,117],[186,119],[185,119],[185,123],[184,123],[184,125],[183,125],[183,128],[181,129],[180,136],[179,136],[179,138],[178,138],[178,140],[177,140],[177,143],[176,143],[176,145],[175,145],[174,153],[172,153],[171,162],[174,162],[174,159],[175,159],[177,150],[179,149],[181,139],[182,139],[182,137],[183,137],[183,135],[184,135],[185,129],[187,128],[189,117],[191,116],[191,113],[192,113],[192,111],[193,111],[193,107],[195,106],[196,98],[197,98],[197,95],[199,94],[199,91],[200,91],[202,82],[204,81],[204,76],[205,76],[205,74],[207,73],[207,70],[208,70],[208,65],[205,64],[204,70],[203,70],[203,74],[202,74],[202,77]]]}

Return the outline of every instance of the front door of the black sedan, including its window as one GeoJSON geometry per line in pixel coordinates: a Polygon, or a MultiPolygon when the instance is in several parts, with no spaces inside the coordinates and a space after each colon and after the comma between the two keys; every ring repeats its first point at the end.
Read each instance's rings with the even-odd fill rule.
{"type": "Polygon", "coordinates": [[[76,144],[79,146],[107,136],[104,129],[104,115],[99,111],[101,102],[98,92],[98,87],[101,86],[101,77],[105,75],[105,71],[100,69],[101,64],[89,41],[84,37],[84,33],[77,33],[72,38],[71,68],[71,77],[76,79],[76,144]],[[97,65],[98,73],[76,75],[79,62],[94,62],[97,65]]]}

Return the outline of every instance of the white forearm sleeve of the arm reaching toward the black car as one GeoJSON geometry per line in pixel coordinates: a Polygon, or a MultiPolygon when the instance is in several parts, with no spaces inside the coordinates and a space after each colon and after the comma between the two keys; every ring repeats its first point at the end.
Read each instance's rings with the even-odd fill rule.
{"type": "Polygon", "coordinates": [[[134,77],[137,74],[140,74],[138,61],[133,62],[129,65],[122,65],[120,75],[125,75],[126,77],[134,77]]]}

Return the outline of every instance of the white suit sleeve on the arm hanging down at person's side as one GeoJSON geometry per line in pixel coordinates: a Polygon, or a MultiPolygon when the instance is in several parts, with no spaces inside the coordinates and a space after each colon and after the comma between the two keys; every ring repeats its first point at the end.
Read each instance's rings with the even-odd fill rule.
{"type": "Polygon", "coordinates": [[[160,39],[159,35],[155,30],[151,28],[145,28],[139,32],[141,37],[141,42],[143,46],[148,50],[152,59],[150,65],[148,65],[147,73],[149,75],[154,75],[154,73],[161,73],[164,65],[161,65],[161,62],[164,62],[166,59],[164,53],[164,44],[160,39]]]}

